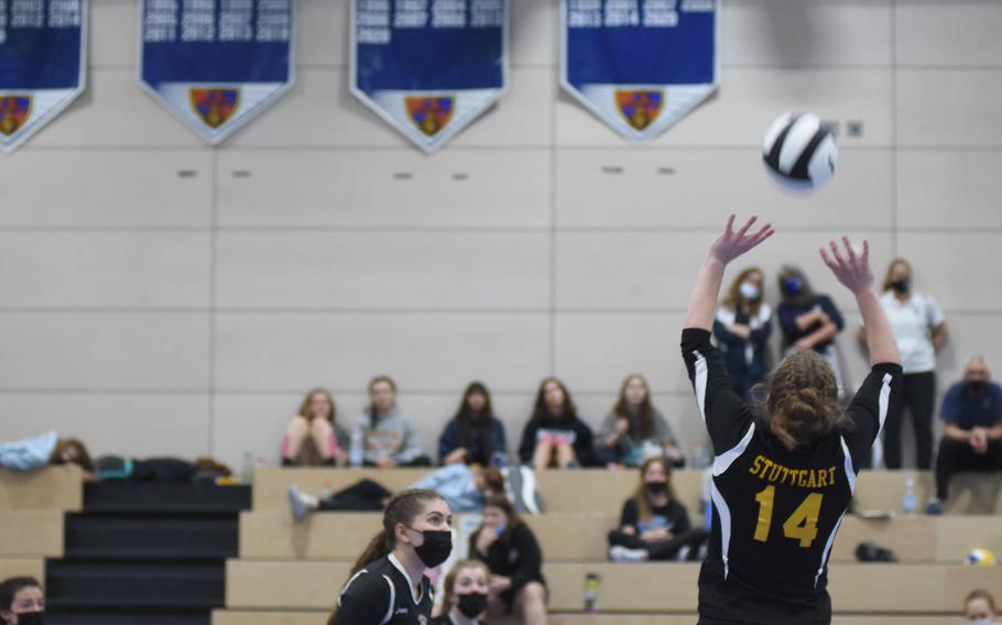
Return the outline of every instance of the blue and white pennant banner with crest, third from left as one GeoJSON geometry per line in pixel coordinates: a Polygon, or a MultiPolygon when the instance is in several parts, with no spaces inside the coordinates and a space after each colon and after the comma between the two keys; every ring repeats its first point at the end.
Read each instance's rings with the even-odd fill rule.
{"type": "Polygon", "coordinates": [[[508,0],[352,0],[351,92],[426,152],[508,88],[508,0]]]}

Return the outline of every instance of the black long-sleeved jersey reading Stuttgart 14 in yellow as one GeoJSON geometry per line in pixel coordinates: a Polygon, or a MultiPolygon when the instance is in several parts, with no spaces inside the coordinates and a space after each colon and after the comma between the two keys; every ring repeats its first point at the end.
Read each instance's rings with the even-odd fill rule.
{"type": "Polygon", "coordinates": [[[827,625],[828,555],[901,365],[873,366],[847,408],[851,431],[791,452],[733,391],[708,331],[683,330],[682,351],[715,457],[699,623],[827,625]]]}

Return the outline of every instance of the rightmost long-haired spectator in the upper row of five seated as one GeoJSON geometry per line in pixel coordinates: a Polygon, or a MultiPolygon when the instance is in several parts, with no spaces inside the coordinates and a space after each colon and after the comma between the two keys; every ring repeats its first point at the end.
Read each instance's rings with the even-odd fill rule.
{"type": "Polygon", "coordinates": [[[664,415],[651,403],[651,387],[643,375],[628,376],[612,413],[598,431],[598,457],[603,464],[640,467],[652,456],[663,456],[673,467],[685,457],[664,415]]]}

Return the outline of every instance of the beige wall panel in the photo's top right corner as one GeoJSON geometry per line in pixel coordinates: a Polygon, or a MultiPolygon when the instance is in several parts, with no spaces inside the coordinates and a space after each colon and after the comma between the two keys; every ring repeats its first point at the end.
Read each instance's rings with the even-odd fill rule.
{"type": "Polygon", "coordinates": [[[1002,64],[999,2],[897,0],[894,30],[902,65],[1002,64]]]}

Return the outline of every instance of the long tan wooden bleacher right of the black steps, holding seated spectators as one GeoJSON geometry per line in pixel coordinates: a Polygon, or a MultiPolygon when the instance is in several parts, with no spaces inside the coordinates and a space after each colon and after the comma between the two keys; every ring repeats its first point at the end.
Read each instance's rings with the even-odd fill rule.
{"type": "MultiPolygon", "coordinates": [[[[336,492],[362,478],[401,490],[428,470],[265,469],[254,482],[254,508],[240,518],[240,559],[227,563],[227,610],[214,625],[253,619],[263,625],[323,625],[348,570],[379,529],[375,513],[315,514],[293,523],[290,484],[336,492]],[[282,580],[280,584],[275,580],[282,580]]],[[[924,502],[932,481],[916,473],[924,502]]],[[[979,476],[980,478],[980,476],[979,476]]],[[[614,564],[606,561],[606,535],[636,486],[634,471],[544,472],[537,475],[546,513],[525,520],[545,553],[551,623],[556,625],[654,625],[695,622],[698,564],[614,564]],[[573,533],[567,528],[574,527],[573,533]],[[598,615],[582,611],[586,573],[601,575],[598,615]]],[[[701,518],[701,473],[676,471],[673,483],[694,523],[701,518]]],[[[901,515],[905,474],[864,472],[858,509],[898,512],[892,520],[847,516],[831,553],[830,590],[836,625],[946,625],[955,623],[973,588],[1002,588],[1002,568],[961,564],[974,547],[1002,555],[998,483],[957,481],[948,514],[901,515]],[[872,540],[895,551],[897,564],[856,563],[859,542],[872,540]],[[880,589],[880,592],[874,592],[880,589]]],[[[996,482],[1002,482],[996,480],[996,482]]]]}

